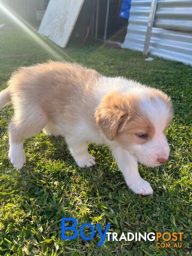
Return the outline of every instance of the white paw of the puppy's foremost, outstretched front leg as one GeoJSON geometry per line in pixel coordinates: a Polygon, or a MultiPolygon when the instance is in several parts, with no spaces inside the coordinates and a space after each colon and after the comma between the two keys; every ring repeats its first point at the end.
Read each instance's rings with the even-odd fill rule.
{"type": "Polygon", "coordinates": [[[143,179],[135,180],[130,186],[130,189],[135,193],[143,196],[148,196],[153,194],[153,189],[151,188],[149,182],[143,179]]]}

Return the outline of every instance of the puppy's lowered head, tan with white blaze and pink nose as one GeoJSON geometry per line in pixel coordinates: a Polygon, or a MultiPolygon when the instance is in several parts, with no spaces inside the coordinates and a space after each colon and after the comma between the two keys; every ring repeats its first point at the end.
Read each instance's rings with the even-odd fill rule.
{"type": "Polygon", "coordinates": [[[127,94],[111,92],[96,109],[95,120],[107,139],[153,167],[169,158],[165,130],[172,115],[170,98],[145,87],[127,94]]]}

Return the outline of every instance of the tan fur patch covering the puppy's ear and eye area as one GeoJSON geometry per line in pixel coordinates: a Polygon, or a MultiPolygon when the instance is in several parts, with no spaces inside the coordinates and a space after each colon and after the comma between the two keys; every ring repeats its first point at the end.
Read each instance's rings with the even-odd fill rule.
{"type": "Polygon", "coordinates": [[[97,124],[110,140],[122,143],[145,143],[154,135],[154,126],[139,109],[139,98],[131,93],[112,92],[103,98],[95,111],[97,124]],[[136,134],[147,133],[147,139],[136,134]]]}

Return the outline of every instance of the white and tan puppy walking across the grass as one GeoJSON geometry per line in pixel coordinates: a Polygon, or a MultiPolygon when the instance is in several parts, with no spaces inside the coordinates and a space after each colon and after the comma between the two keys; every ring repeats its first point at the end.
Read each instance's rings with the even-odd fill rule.
{"type": "Polygon", "coordinates": [[[65,137],[80,167],[95,164],[87,141],[108,145],[134,193],[153,189],[138,172],[138,162],[167,162],[165,129],[172,119],[170,98],[163,92],[122,77],[105,77],[73,63],[48,62],[21,68],[0,93],[0,107],[13,103],[9,158],[25,164],[23,140],[44,130],[65,137]]]}

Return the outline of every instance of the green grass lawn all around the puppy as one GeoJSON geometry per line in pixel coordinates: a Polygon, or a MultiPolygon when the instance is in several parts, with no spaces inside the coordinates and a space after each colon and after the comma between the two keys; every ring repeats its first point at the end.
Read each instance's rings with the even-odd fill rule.
{"type": "MultiPolygon", "coordinates": [[[[27,164],[14,170],[7,158],[7,125],[13,113],[0,115],[0,254],[1,255],[187,255],[191,241],[190,122],[192,68],[154,57],[146,62],[139,52],[110,49],[100,44],[65,50],[50,45],[63,60],[76,61],[103,75],[125,76],[169,94],[174,118],[167,130],[171,146],[169,163],[154,169],[139,166],[154,188],[153,196],[133,194],[107,147],[90,145],[97,166],[80,169],[63,138],[43,133],[25,142],[27,164]],[[65,57],[67,54],[68,57],[65,57]],[[62,241],[61,218],[100,223],[126,232],[184,232],[182,249],[157,249],[154,242],[105,242],[98,237],[62,241]]],[[[0,30],[0,86],[20,66],[54,59],[18,29],[0,30]],[[3,55],[30,54],[17,58],[3,55]]]]}

